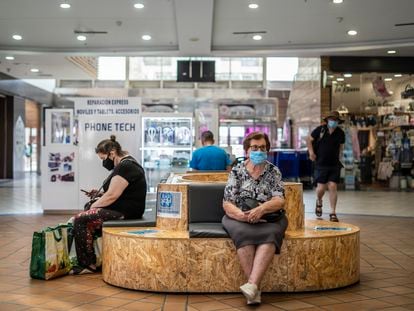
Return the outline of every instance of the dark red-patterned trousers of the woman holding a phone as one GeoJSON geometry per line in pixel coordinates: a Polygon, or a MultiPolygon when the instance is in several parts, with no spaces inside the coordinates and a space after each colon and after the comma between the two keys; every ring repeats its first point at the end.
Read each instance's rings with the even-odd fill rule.
{"type": "Polygon", "coordinates": [[[102,223],[107,220],[123,218],[122,213],[105,208],[90,209],[75,216],[73,237],[76,245],[76,257],[80,266],[88,267],[96,263],[93,237],[94,234],[102,230],[102,223]]]}

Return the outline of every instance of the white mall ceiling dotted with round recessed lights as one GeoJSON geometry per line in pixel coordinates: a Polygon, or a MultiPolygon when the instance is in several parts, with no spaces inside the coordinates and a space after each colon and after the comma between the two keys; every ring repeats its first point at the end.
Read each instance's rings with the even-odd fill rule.
{"type": "Polygon", "coordinates": [[[66,0],[66,10],[62,2],[0,2],[1,72],[90,79],[67,56],[387,56],[393,49],[414,57],[414,25],[395,26],[414,22],[413,0],[66,0]],[[358,34],[347,35],[351,29],[358,34]],[[107,33],[82,42],[75,31],[107,33]],[[255,32],[263,39],[253,40],[255,32]],[[41,72],[31,73],[33,66],[41,72]]]}

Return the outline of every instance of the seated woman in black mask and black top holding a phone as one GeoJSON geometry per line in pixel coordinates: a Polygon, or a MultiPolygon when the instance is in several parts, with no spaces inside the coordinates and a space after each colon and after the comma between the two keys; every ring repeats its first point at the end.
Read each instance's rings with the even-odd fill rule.
{"type": "MultiPolygon", "coordinates": [[[[93,248],[94,233],[101,230],[102,223],[114,219],[138,219],[145,210],[147,183],[141,165],[122,150],[115,136],[101,141],[95,152],[102,166],[112,171],[103,184],[103,194],[88,211],[74,217],[73,235],[78,264],[84,272],[96,270],[93,248]],[[88,271],[89,270],[89,271],[88,271]]],[[[91,196],[96,190],[87,193],[91,196]]]]}

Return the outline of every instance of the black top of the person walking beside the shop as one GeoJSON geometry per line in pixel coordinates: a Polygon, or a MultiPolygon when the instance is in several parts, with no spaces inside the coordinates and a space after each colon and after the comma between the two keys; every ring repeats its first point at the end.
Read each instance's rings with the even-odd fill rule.
{"type": "Polygon", "coordinates": [[[311,133],[314,139],[314,150],[316,154],[316,166],[332,167],[339,165],[339,149],[345,143],[345,133],[339,127],[332,134],[325,125],[318,126],[311,133]],[[321,135],[321,131],[324,133],[321,135]]]}

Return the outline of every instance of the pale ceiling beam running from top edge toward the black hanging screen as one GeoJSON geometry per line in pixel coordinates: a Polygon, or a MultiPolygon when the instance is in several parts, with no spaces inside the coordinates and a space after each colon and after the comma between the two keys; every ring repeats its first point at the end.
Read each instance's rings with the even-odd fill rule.
{"type": "Polygon", "coordinates": [[[213,0],[175,0],[180,55],[210,55],[213,12],[213,0]]]}

